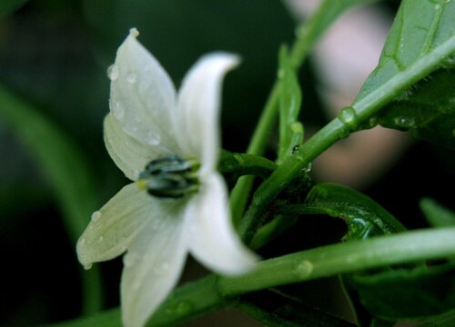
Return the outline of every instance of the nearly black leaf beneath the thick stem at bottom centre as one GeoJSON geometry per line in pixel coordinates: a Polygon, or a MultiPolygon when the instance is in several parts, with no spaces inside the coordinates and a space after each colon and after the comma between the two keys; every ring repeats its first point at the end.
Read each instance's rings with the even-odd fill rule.
{"type": "Polygon", "coordinates": [[[276,290],[252,292],[240,298],[236,307],[270,327],[354,327],[327,312],[276,290]]]}

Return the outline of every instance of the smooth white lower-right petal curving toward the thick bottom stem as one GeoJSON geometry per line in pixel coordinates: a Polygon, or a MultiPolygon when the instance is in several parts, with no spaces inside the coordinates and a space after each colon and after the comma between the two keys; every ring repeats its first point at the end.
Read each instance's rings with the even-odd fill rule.
{"type": "Polygon", "coordinates": [[[227,188],[214,173],[204,181],[188,203],[186,223],[190,226],[190,252],[216,272],[235,274],[254,267],[257,256],[241,243],[230,222],[227,188]]]}

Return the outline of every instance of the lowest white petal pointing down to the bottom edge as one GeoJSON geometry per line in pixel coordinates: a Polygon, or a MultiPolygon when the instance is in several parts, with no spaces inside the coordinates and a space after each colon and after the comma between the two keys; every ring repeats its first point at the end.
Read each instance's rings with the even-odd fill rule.
{"type": "Polygon", "coordinates": [[[187,256],[181,205],[162,202],[153,214],[159,225],[147,225],[124,257],[121,282],[122,319],[141,327],[176,286],[187,256]]]}

